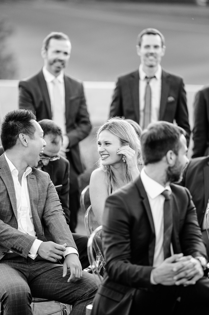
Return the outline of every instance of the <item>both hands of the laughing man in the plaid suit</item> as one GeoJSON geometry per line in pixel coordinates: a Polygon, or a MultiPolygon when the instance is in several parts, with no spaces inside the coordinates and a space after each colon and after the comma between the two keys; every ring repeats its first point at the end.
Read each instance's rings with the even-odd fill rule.
{"type": "MultiPolygon", "coordinates": [[[[64,256],[66,245],[66,243],[59,245],[51,241],[42,242],[37,254],[46,260],[57,262],[58,259],[62,259],[64,256]]],[[[65,256],[63,263],[63,277],[67,275],[68,269],[70,269],[68,282],[76,282],[82,277],[82,266],[77,254],[72,253],[65,256]]]]}

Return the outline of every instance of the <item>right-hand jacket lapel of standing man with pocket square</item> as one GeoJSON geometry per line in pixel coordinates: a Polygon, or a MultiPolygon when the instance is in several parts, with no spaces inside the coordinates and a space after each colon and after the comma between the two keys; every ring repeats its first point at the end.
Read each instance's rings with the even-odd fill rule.
{"type": "Polygon", "coordinates": [[[162,70],[159,120],[163,120],[163,117],[166,111],[168,92],[170,88],[169,77],[170,77],[169,73],[162,70]]]}

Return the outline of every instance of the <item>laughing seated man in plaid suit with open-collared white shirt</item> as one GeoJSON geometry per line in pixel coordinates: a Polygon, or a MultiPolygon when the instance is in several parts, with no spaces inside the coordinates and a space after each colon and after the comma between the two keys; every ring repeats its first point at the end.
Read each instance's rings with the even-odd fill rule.
{"type": "Polygon", "coordinates": [[[0,301],[5,315],[32,315],[32,296],[73,305],[85,315],[97,285],[83,272],[56,189],[36,169],[46,142],[31,111],[8,112],[1,126],[0,301]],[[52,234],[48,242],[42,223],[52,234]],[[61,265],[58,260],[64,258],[61,265]],[[67,276],[67,278],[66,278],[67,276]]]}

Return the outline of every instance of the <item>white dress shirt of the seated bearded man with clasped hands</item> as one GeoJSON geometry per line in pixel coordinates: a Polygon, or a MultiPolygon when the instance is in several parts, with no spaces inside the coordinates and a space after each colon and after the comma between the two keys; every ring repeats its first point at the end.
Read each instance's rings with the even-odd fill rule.
{"type": "MultiPolygon", "coordinates": [[[[164,261],[163,252],[163,234],[164,234],[164,217],[163,207],[165,197],[161,193],[167,189],[171,193],[171,187],[166,187],[159,184],[157,181],[151,179],[146,175],[145,169],[143,168],[140,173],[142,184],[147,193],[147,197],[150,203],[151,213],[155,226],[155,252],[153,259],[153,267],[159,266],[164,261]]],[[[171,253],[173,248],[171,246],[171,253]]]]}

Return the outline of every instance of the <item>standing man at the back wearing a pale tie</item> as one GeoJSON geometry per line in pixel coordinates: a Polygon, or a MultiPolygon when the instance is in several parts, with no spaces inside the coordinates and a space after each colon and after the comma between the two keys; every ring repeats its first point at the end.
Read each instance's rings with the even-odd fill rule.
{"type": "Polygon", "coordinates": [[[91,131],[83,84],[64,74],[71,43],[63,33],[52,32],[43,41],[44,67],[36,75],[19,82],[19,108],[30,109],[37,121],[52,119],[62,128],[60,154],[70,163],[70,229],[75,232],[79,204],[78,175],[83,172],[79,142],[91,131]]]}

